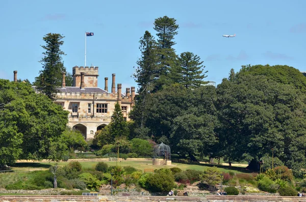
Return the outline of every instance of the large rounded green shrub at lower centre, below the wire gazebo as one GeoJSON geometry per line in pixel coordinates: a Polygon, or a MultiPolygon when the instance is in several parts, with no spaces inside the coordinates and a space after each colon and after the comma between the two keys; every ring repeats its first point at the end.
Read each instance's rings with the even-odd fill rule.
{"type": "Polygon", "coordinates": [[[172,176],[157,173],[150,175],[146,181],[146,189],[152,192],[168,192],[174,187],[174,179],[172,176]]]}

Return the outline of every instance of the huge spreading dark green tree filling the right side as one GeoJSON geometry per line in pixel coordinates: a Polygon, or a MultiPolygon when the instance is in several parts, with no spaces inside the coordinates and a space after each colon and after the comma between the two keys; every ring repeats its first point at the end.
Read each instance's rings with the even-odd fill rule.
{"type": "Polygon", "coordinates": [[[220,141],[227,159],[257,161],[273,149],[290,168],[305,164],[306,97],[275,76],[232,73],[218,85],[220,141]]]}

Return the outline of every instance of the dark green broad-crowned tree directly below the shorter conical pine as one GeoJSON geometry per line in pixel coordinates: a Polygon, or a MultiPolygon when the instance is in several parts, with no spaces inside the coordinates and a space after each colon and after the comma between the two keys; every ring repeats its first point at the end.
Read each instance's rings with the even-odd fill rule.
{"type": "Polygon", "coordinates": [[[181,155],[211,156],[218,142],[216,129],[219,127],[214,86],[201,86],[188,90],[188,107],[173,120],[171,132],[172,150],[181,155]]]}

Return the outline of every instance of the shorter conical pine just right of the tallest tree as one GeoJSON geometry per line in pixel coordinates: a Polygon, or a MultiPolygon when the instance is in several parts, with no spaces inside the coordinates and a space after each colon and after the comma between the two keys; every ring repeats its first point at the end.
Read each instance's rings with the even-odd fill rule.
{"type": "Polygon", "coordinates": [[[205,66],[202,65],[203,61],[200,61],[199,56],[192,52],[183,52],[179,61],[180,67],[176,73],[180,77],[176,80],[177,82],[182,83],[187,89],[207,83],[207,81],[203,81],[203,78],[207,77],[205,74],[208,71],[203,72],[205,66]]]}

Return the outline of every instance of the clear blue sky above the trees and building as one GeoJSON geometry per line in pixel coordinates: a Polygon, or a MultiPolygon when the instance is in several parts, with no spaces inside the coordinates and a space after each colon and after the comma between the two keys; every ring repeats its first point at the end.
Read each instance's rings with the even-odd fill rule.
{"type": "MultiPolygon", "coordinates": [[[[167,15],[179,24],[176,54],[190,51],[201,57],[206,80],[227,77],[241,65],[289,65],[306,71],[306,1],[15,1],[0,3],[0,78],[31,82],[42,69],[43,36],[65,36],[62,50],[68,72],[84,66],[85,32],[87,65],[99,67],[98,85],[116,74],[122,88],[137,86],[131,77],[140,56],[139,39],[154,20],[167,15]],[[234,35],[224,38],[222,35],[234,35]]],[[[109,83],[110,85],[110,83],[109,83]]],[[[124,90],[123,90],[124,91],[124,90]]]]}

